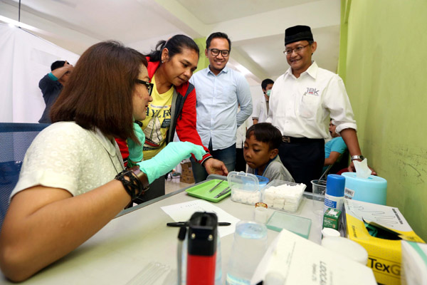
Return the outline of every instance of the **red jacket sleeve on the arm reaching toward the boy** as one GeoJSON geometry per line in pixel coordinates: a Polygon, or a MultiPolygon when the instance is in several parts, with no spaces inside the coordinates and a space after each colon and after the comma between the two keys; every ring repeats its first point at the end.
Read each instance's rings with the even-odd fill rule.
{"type": "Polygon", "coordinates": [[[182,113],[176,120],[176,134],[181,142],[193,142],[195,145],[201,145],[206,150],[206,155],[203,156],[199,163],[204,162],[206,158],[211,157],[207,147],[201,142],[199,133],[196,129],[196,89],[194,88],[184,102],[182,113]]]}

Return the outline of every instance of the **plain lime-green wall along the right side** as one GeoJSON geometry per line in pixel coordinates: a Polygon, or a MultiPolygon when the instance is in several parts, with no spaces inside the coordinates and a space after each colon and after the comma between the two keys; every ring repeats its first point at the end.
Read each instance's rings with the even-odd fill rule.
{"type": "Polygon", "coordinates": [[[387,204],[427,242],[426,15],[426,0],[342,0],[339,74],[387,204]]]}

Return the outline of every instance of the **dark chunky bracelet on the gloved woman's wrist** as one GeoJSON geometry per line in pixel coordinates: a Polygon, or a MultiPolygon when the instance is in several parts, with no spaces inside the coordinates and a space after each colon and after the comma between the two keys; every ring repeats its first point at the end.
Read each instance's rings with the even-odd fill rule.
{"type": "Polygon", "coordinates": [[[122,182],[123,187],[125,187],[132,201],[144,195],[149,188],[147,175],[137,167],[133,167],[130,170],[123,170],[117,174],[114,179],[122,182]],[[126,180],[125,177],[128,177],[129,180],[126,180]]]}

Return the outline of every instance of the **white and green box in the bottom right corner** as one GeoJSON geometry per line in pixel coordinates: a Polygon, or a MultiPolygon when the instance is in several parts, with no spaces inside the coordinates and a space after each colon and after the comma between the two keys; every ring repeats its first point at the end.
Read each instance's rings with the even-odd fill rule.
{"type": "Polygon", "coordinates": [[[401,284],[427,284],[427,244],[402,241],[401,284]]]}

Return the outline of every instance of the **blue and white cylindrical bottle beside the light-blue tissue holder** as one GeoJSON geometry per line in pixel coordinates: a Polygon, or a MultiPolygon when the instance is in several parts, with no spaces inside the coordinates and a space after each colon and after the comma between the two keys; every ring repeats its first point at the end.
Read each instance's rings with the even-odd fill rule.
{"type": "Polygon", "coordinates": [[[334,208],[342,211],[342,204],[344,204],[344,186],[344,176],[336,174],[327,175],[323,213],[326,212],[327,208],[334,208]]]}

